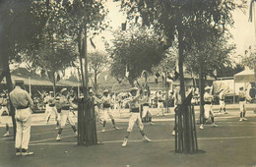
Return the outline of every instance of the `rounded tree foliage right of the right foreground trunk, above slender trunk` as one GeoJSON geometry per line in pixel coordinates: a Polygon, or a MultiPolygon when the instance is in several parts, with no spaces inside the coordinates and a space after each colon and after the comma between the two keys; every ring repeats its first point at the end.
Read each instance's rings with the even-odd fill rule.
{"type": "Polygon", "coordinates": [[[219,37],[208,38],[206,42],[192,45],[185,58],[185,65],[188,71],[195,75],[199,75],[202,69],[202,75],[213,75],[215,70],[222,69],[225,65],[230,64],[230,54],[234,49],[234,45],[228,44],[226,39],[219,37]]]}

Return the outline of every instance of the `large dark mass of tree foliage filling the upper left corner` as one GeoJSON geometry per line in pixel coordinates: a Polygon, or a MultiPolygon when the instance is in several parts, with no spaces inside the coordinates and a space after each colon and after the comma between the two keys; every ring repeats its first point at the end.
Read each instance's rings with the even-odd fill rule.
{"type": "MultiPolygon", "coordinates": [[[[33,68],[55,73],[74,65],[77,47],[83,52],[83,29],[94,37],[107,27],[107,10],[97,0],[0,1],[1,55],[15,62],[30,62],[33,68]],[[3,10],[2,10],[3,9],[3,10]],[[4,40],[3,40],[4,41],[4,40]]],[[[92,41],[92,40],[91,40],[92,41]]],[[[93,41],[92,41],[93,43],[93,41]]]]}

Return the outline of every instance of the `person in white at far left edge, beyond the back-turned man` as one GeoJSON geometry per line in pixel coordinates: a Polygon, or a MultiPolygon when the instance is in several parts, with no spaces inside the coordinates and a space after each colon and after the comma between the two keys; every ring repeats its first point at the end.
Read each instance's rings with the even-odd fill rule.
{"type": "MultiPolygon", "coordinates": [[[[10,120],[9,118],[11,118],[11,117],[10,117],[10,113],[9,113],[7,105],[8,105],[8,95],[6,92],[3,92],[0,94],[0,107],[1,107],[0,108],[0,119],[1,119],[3,112],[6,112],[8,115],[8,119],[5,121],[6,122],[6,134],[4,135],[4,137],[10,136],[8,122],[10,120]]],[[[1,120],[0,120],[0,122],[1,122],[1,120]]]]}

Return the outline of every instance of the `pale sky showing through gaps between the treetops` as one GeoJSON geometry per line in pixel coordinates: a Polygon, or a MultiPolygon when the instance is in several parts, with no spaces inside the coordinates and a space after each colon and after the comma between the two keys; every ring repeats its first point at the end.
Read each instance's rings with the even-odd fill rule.
{"type": "MultiPolygon", "coordinates": [[[[249,2],[248,2],[249,4],[249,2]]],[[[110,21],[111,29],[103,31],[100,35],[96,36],[94,42],[96,43],[96,49],[104,51],[104,42],[101,40],[101,36],[104,36],[105,40],[113,38],[111,30],[121,28],[121,24],[125,23],[126,16],[120,12],[120,3],[107,1],[105,3],[106,8],[109,10],[108,20],[110,21]]],[[[230,42],[236,44],[236,54],[244,55],[244,50],[248,49],[250,45],[256,45],[256,34],[254,34],[254,24],[248,22],[249,9],[247,8],[245,13],[240,10],[233,12],[234,28],[230,28],[230,32],[233,35],[233,39],[230,42]]],[[[256,46],[255,46],[256,49],[256,46]]],[[[95,48],[89,46],[89,51],[94,51],[95,48]]]]}

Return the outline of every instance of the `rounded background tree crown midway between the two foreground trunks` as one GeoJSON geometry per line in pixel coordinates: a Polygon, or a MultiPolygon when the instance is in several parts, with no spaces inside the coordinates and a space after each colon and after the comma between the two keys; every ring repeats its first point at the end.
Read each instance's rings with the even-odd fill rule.
{"type": "Polygon", "coordinates": [[[111,75],[118,81],[124,79],[126,67],[129,83],[141,76],[143,70],[152,72],[152,67],[164,57],[166,46],[160,37],[145,28],[129,28],[128,31],[115,31],[112,45],[107,51],[112,60],[111,75]]]}

